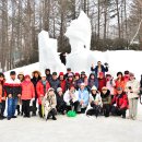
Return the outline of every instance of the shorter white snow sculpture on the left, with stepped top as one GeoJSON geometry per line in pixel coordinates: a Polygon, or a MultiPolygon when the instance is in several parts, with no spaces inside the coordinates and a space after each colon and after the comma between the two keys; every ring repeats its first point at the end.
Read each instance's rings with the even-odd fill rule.
{"type": "Polygon", "coordinates": [[[40,71],[49,68],[51,71],[66,72],[57,52],[57,39],[49,38],[48,32],[42,31],[38,34],[38,48],[40,71]]]}

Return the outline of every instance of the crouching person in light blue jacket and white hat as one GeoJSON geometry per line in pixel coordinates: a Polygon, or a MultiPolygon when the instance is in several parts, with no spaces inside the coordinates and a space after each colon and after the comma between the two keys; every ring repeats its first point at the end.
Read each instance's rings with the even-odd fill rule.
{"type": "Polygon", "coordinates": [[[80,103],[79,113],[84,114],[90,99],[90,94],[87,88],[85,87],[85,83],[81,83],[78,95],[79,95],[79,103],[80,103]]]}

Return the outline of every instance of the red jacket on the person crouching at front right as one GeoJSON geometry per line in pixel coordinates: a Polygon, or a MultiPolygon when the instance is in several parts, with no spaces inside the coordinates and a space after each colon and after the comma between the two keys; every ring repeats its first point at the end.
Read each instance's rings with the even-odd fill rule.
{"type": "Polygon", "coordinates": [[[115,95],[113,104],[116,104],[118,108],[128,108],[128,97],[126,93],[115,95]]]}

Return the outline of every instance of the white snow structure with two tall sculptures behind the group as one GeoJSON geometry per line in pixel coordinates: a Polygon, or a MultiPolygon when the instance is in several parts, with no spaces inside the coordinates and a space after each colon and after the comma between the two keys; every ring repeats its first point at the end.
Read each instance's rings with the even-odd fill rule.
{"type": "MultiPolygon", "coordinates": [[[[71,54],[67,57],[67,66],[61,63],[57,52],[57,39],[49,38],[48,32],[42,31],[38,35],[39,62],[14,69],[16,72],[32,75],[34,70],[43,72],[46,68],[52,71],[66,72],[70,67],[74,72],[91,72],[92,63],[96,66],[100,60],[109,63],[109,73],[116,78],[118,71],[129,70],[140,80],[142,68],[142,51],[116,50],[116,51],[91,51],[91,23],[84,12],[81,12],[76,20],[73,20],[67,29],[66,36],[69,37],[71,54]]],[[[10,71],[5,72],[5,75],[10,71]]],[[[8,75],[9,76],[9,75],[8,75]]]]}

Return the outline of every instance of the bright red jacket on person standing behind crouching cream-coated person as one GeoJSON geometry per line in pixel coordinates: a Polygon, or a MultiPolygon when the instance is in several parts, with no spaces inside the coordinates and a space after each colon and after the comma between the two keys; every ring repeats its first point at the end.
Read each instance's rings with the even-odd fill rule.
{"type": "Polygon", "coordinates": [[[42,81],[37,82],[36,85],[36,92],[37,92],[37,97],[38,97],[38,104],[42,105],[42,97],[45,96],[46,92],[48,91],[48,88],[50,87],[50,84],[48,81],[46,81],[46,90],[44,90],[44,85],[42,83],[42,81]]]}

